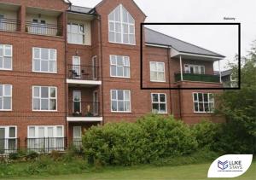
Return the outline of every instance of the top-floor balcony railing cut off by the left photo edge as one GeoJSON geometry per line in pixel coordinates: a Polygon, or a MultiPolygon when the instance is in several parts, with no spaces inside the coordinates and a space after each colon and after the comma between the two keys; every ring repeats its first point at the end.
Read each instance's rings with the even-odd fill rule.
{"type": "Polygon", "coordinates": [[[17,32],[20,27],[20,20],[0,18],[0,31],[17,32]]]}

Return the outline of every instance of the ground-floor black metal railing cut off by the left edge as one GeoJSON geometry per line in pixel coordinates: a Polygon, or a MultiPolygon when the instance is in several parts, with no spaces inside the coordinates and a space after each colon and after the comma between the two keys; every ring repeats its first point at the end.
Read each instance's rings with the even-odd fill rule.
{"type": "Polygon", "coordinates": [[[0,139],[0,154],[17,153],[20,148],[19,138],[0,139]]]}

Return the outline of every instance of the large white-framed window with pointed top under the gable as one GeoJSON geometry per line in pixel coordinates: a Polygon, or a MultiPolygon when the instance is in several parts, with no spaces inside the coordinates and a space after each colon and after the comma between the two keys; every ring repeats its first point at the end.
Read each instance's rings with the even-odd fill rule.
{"type": "Polygon", "coordinates": [[[108,39],[111,43],[135,44],[135,20],[121,4],[108,15],[108,39]]]}

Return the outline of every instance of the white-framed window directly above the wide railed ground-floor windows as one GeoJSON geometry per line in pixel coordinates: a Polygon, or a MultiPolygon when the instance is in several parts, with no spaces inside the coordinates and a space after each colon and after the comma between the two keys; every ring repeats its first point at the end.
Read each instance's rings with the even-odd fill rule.
{"type": "Polygon", "coordinates": [[[56,111],[57,110],[57,88],[33,86],[32,108],[34,111],[56,111]]]}

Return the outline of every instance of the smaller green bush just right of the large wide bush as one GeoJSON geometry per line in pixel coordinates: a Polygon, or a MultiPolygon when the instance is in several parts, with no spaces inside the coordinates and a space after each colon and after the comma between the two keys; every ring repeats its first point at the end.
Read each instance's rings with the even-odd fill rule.
{"type": "Polygon", "coordinates": [[[214,146],[216,141],[216,136],[218,136],[220,131],[220,127],[221,125],[207,120],[203,120],[201,123],[193,125],[191,131],[198,142],[198,147],[212,149],[212,146],[214,146]]]}

